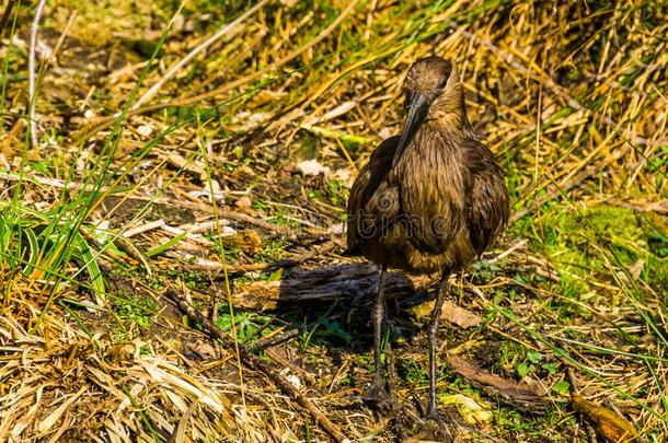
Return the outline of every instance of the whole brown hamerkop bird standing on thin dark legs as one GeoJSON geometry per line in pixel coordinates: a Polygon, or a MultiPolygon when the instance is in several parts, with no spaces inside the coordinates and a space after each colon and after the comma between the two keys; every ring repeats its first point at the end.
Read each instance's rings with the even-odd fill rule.
{"type": "Polygon", "coordinates": [[[400,136],[383,141],[361,170],[348,201],[348,253],[381,266],[373,305],[376,373],[365,398],[390,401],[381,378],[384,275],[441,272],[428,326],[429,405],[437,418],[436,333],[450,273],[490,246],[508,220],[500,167],[467,118],[454,67],[440,57],[416,61],[405,80],[408,115],[400,136]]]}

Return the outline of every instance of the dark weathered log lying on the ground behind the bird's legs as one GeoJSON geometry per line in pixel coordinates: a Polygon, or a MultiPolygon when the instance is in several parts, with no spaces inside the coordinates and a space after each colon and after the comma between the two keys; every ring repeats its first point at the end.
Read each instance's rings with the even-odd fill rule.
{"type": "MultiPolygon", "coordinates": [[[[283,305],[335,299],[371,298],[378,289],[378,267],[369,263],[287,270],[278,281],[244,284],[232,300],[246,310],[275,310],[283,305]]],[[[388,299],[412,294],[413,282],[401,273],[385,276],[388,299]]]]}

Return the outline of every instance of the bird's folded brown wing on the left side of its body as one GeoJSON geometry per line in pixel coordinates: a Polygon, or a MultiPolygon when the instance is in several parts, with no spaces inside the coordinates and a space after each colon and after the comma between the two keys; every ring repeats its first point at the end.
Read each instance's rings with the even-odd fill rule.
{"type": "Polygon", "coordinates": [[[384,197],[396,193],[388,185],[385,178],[392,167],[392,158],[399,137],[390,137],[373,151],[369,162],[361,168],[350,188],[347,209],[347,253],[359,254],[359,241],[379,235],[382,232],[380,223],[391,218],[399,210],[399,197],[395,198],[396,208],[385,205],[384,197]]]}

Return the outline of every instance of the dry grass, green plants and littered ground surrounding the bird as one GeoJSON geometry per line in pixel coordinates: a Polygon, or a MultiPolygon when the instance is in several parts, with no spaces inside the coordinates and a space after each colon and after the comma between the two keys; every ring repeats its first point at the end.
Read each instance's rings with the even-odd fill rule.
{"type": "Polygon", "coordinates": [[[434,281],[395,276],[401,408],[379,415],[356,399],[373,269],[339,254],[347,188],[430,54],[514,212],[441,327],[451,431],[668,439],[666,2],[0,5],[0,441],[426,438],[434,281]],[[290,299],[323,268],[359,284],[290,299]]]}

